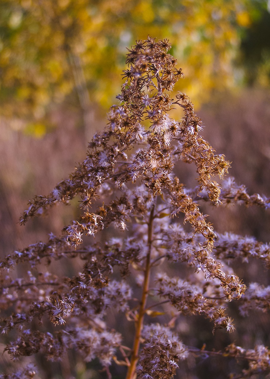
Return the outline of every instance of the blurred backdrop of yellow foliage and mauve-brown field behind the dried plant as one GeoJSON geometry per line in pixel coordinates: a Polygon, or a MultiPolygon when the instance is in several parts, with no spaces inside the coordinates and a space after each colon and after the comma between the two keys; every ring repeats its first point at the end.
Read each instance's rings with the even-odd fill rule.
{"type": "MultiPolygon", "coordinates": [[[[78,203],[73,202],[52,208],[50,216],[33,219],[25,227],[18,224],[29,199],[49,193],[73,171],[75,162],[84,160],[88,141],[106,124],[109,107],[118,103],[126,47],[148,35],[171,42],[170,53],[185,74],[175,91],[191,97],[205,125],[203,136],[232,162],[230,175],[249,193],[270,196],[269,0],[2,0],[2,257],[46,240],[50,232],[59,235],[78,216],[78,203]]],[[[182,113],[172,111],[172,116],[179,120],[182,113]]],[[[192,187],[196,172],[186,166],[180,166],[180,180],[192,187]]],[[[217,212],[203,207],[218,232],[270,240],[269,211],[219,207],[217,212]]],[[[241,270],[239,276],[252,281],[259,274],[268,283],[260,265],[241,270]]],[[[193,342],[199,346],[210,340],[211,325],[205,321],[200,334],[196,318],[192,320],[193,342]]],[[[246,345],[270,344],[265,315],[256,322],[261,325],[259,337],[254,332],[246,345]]],[[[253,326],[250,321],[248,327],[253,326]]],[[[190,328],[182,323],[184,339],[185,333],[191,335],[190,328]]],[[[211,374],[208,366],[200,363],[193,377],[219,377],[217,368],[211,374]]],[[[84,369],[78,377],[84,378],[83,373],[84,369]]]]}

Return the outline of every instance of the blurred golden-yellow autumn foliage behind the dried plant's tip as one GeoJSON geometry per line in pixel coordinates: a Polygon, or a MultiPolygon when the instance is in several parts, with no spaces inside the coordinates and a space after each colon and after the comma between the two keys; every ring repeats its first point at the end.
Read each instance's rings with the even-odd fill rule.
{"type": "Polygon", "coordinates": [[[0,112],[35,120],[28,129],[39,135],[63,102],[107,109],[126,46],[148,34],[169,38],[186,75],[181,89],[202,103],[233,85],[241,38],[266,8],[256,0],[2,0],[0,112]]]}

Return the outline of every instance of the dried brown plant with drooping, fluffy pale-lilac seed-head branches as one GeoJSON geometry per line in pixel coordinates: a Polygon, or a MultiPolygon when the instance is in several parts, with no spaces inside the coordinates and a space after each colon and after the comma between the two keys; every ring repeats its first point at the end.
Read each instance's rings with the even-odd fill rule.
{"type": "MultiPolygon", "coordinates": [[[[165,379],[192,354],[219,355],[247,362],[241,374],[231,377],[269,372],[265,346],[244,349],[231,343],[224,351],[206,351],[185,346],[174,328],[180,315],[197,314],[210,320],[213,333],[232,332],[230,302],[237,301],[242,315],[269,309],[270,288],[251,283],[245,292],[228,266],[229,260],[254,257],[269,266],[269,244],[215,233],[199,203],[266,209],[270,200],[250,196],[231,178],[222,184],[214,180],[223,180],[230,162],[200,136],[202,121],[189,97],[170,96],[183,73],[169,49],[166,39],[136,42],[127,54],[126,81],[117,96],[121,105],[110,108],[107,126],[89,143],[86,159],[49,196],[36,196],[23,213],[21,224],[81,197],[83,212],[62,236],[50,235],[46,243],[16,251],[0,263],[0,304],[7,313],[1,332],[11,336],[5,337],[5,351],[12,359],[41,353],[58,360],[74,349],[85,362],[98,358],[109,378],[114,361],[126,366],[127,379],[165,379]],[[181,121],[168,115],[177,106],[183,108],[181,121]],[[179,161],[196,165],[196,188],[185,188],[176,176],[179,161]],[[177,222],[181,213],[191,230],[177,222]],[[107,238],[104,228],[111,226],[123,233],[107,238]],[[82,244],[84,235],[100,238],[82,244]],[[82,261],[81,272],[61,277],[40,269],[65,258],[82,261]],[[184,265],[184,274],[173,276],[171,263],[184,265]],[[19,264],[28,267],[23,277],[12,273],[19,264]],[[130,331],[106,322],[109,310],[134,324],[133,345],[126,346],[130,331]],[[158,322],[150,323],[149,317],[158,322]],[[54,332],[45,328],[48,319],[57,326],[54,332]]],[[[31,378],[34,371],[30,365],[1,378],[31,378]]]]}

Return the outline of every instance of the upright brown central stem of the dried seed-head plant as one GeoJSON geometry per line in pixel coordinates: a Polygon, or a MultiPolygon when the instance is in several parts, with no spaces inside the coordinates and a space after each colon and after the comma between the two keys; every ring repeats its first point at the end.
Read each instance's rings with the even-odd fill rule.
{"type": "Polygon", "coordinates": [[[150,279],[150,268],[151,268],[151,250],[152,250],[152,232],[153,232],[153,221],[154,221],[154,205],[152,207],[152,210],[149,215],[149,221],[148,221],[148,252],[146,255],[146,265],[144,270],[144,282],[143,282],[143,293],[141,296],[141,302],[140,302],[140,309],[138,313],[138,318],[136,321],[136,333],[133,343],[133,350],[132,350],[132,356],[130,358],[130,366],[127,371],[126,379],[133,379],[135,377],[135,370],[136,366],[139,360],[138,352],[140,348],[140,338],[141,338],[141,331],[143,329],[143,319],[144,314],[146,310],[146,301],[148,297],[148,291],[149,291],[149,279],[150,279]]]}

